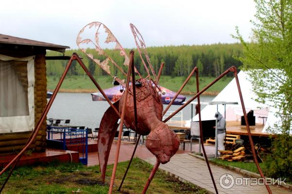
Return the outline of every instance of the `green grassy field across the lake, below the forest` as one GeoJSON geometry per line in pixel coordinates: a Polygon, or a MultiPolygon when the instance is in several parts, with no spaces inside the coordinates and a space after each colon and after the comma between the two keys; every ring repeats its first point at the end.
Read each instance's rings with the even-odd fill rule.
{"type": "MultiPolygon", "coordinates": [[[[110,88],[113,85],[111,84],[112,78],[110,76],[99,76],[95,77],[98,84],[103,88],[110,88]]],[[[205,87],[207,84],[209,84],[211,81],[213,81],[215,78],[209,78],[209,77],[201,77],[200,78],[200,89],[205,87]]],[[[179,88],[182,86],[183,81],[185,78],[183,77],[174,77],[171,78],[170,76],[162,76],[160,79],[160,85],[172,90],[172,91],[178,91],[179,88]]],[[[211,88],[207,90],[207,92],[211,93],[218,93],[220,92],[230,81],[232,78],[223,78],[220,81],[218,81],[215,85],[213,85],[211,88]]],[[[58,83],[59,78],[54,76],[47,77],[47,88],[49,90],[54,90],[56,84],[58,83]]],[[[67,76],[61,86],[61,89],[69,89],[69,90],[97,90],[95,85],[92,83],[92,81],[88,78],[88,76],[67,76]]],[[[184,87],[183,89],[184,94],[188,93],[196,93],[196,79],[195,77],[191,78],[189,83],[184,87]]]]}

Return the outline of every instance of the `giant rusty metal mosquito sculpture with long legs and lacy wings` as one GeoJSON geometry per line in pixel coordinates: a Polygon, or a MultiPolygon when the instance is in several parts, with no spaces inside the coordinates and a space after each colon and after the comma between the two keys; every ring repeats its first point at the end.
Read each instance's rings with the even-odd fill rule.
{"type": "MultiPolygon", "coordinates": [[[[137,71],[134,65],[134,52],[130,51],[130,57],[128,57],[127,53],[123,49],[123,47],[120,45],[118,40],[115,38],[115,36],[110,32],[110,30],[102,23],[100,22],[92,22],[88,25],[86,25],[78,34],[77,36],[77,45],[78,47],[87,55],[89,56],[97,65],[99,65],[103,70],[105,70],[110,76],[113,77],[114,81],[118,82],[123,88],[124,88],[124,94],[122,97],[116,101],[114,104],[110,102],[110,99],[104,94],[101,87],[98,85],[97,81],[93,78],[87,67],[83,64],[82,60],[79,58],[79,56],[76,53],[73,53],[70,61],[68,62],[68,65],[65,68],[65,71],[58,82],[55,92],[53,96],[51,97],[49,103],[45,107],[40,120],[37,123],[36,128],[34,129],[31,137],[28,139],[25,147],[19,152],[19,154],[0,172],[0,175],[2,175],[10,166],[10,172],[8,174],[8,177],[6,178],[4,184],[2,185],[2,188],[0,192],[3,190],[6,182],[8,181],[9,177],[11,176],[14,168],[16,167],[19,159],[21,158],[22,154],[27,150],[27,148],[32,144],[33,140],[37,136],[37,132],[40,129],[41,123],[44,122],[47,113],[49,112],[49,109],[51,108],[55,96],[58,93],[60,86],[62,82],[64,81],[64,78],[73,62],[73,60],[76,60],[81,67],[85,70],[86,74],[90,77],[91,81],[95,84],[95,86],[98,88],[98,90],[101,92],[101,94],[105,97],[105,99],[109,102],[110,108],[105,112],[104,116],[102,117],[101,123],[100,123],[100,129],[98,133],[98,157],[99,157],[99,164],[100,164],[100,170],[101,170],[101,176],[102,180],[105,181],[105,173],[107,168],[107,163],[110,155],[110,148],[111,144],[113,142],[114,135],[117,131],[117,128],[119,127],[119,136],[118,136],[118,143],[117,143],[117,149],[115,154],[115,162],[113,166],[112,176],[110,179],[110,189],[109,194],[112,193],[114,179],[115,179],[115,173],[118,163],[118,157],[119,157],[119,150],[121,145],[121,137],[122,137],[122,129],[123,124],[134,131],[136,131],[139,134],[138,140],[140,139],[141,135],[148,135],[146,140],[146,147],[149,149],[151,153],[153,153],[156,156],[156,163],[151,171],[151,174],[146,181],[146,185],[143,189],[142,194],[145,194],[147,191],[147,188],[152,180],[152,178],[155,175],[155,172],[157,171],[160,163],[164,164],[169,162],[171,157],[177,152],[179,148],[179,139],[177,135],[169,129],[169,127],[165,124],[171,117],[173,117],[175,114],[177,114],[179,111],[181,111],[185,106],[187,106],[191,101],[193,101],[195,98],[198,98],[198,104],[199,104],[199,123],[200,123],[200,139],[201,139],[201,146],[203,150],[204,157],[206,159],[206,163],[214,184],[214,188],[216,193],[218,194],[218,190],[215,184],[215,180],[213,178],[213,174],[211,172],[211,168],[208,162],[208,158],[205,153],[204,145],[203,145],[203,139],[202,139],[202,126],[201,126],[201,110],[200,110],[200,95],[206,91],[209,87],[211,87],[214,83],[219,81],[222,77],[224,77],[227,73],[233,72],[234,76],[237,81],[237,89],[242,105],[242,110],[244,113],[244,119],[245,123],[247,124],[247,131],[249,135],[249,140],[252,147],[253,157],[254,161],[256,163],[257,169],[261,175],[262,178],[264,178],[264,175],[258,165],[257,158],[256,158],[256,152],[254,149],[254,144],[250,132],[250,128],[248,125],[247,115],[245,111],[244,102],[242,99],[242,94],[240,90],[240,85],[237,78],[237,69],[236,67],[232,66],[228,70],[226,70],[224,73],[222,73],[218,78],[216,78],[214,81],[212,81],[209,85],[204,87],[201,91],[199,90],[199,75],[198,75],[198,67],[195,67],[190,75],[187,77],[187,79],[184,81],[183,85],[179,89],[176,96],[171,100],[167,108],[163,111],[163,105],[160,101],[160,96],[162,95],[162,91],[159,87],[159,79],[162,72],[162,68],[164,64],[161,65],[158,75],[156,75],[153,66],[151,65],[150,59],[146,52],[146,45],[143,40],[142,35],[137,30],[137,28],[130,24],[131,31],[134,35],[135,43],[137,45],[138,52],[141,57],[141,61],[144,65],[144,68],[147,72],[147,77],[143,78],[141,74],[137,71]],[[96,28],[95,32],[95,42],[93,42],[91,39],[82,39],[81,35],[84,33],[85,30],[89,30],[92,27],[96,28]],[[99,45],[99,35],[101,29],[104,29],[107,36],[105,43],[114,43],[115,47],[114,49],[118,52],[121,56],[124,57],[124,64],[125,66],[128,66],[128,72],[126,73],[124,71],[124,68],[122,66],[119,66],[116,62],[114,62],[110,56],[107,54],[107,52],[103,49],[101,49],[99,45]],[[92,43],[95,46],[95,50],[97,51],[98,55],[105,57],[104,60],[99,60],[93,57],[93,54],[87,53],[86,49],[82,49],[81,46],[83,44],[92,43]],[[146,62],[143,58],[146,58],[146,62]],[[112,68],[110,66],[114,66],[114,68],[119,70],[124,76],[127,76],[126,83],[122,80],[116,77],[112,73],[112,68]],[[149,68],[148,68],[149,67],[149,68]],[[152,76],[154,80],[151,78],[150,71],[152,73],[152,76]],[[138,74],[139,79],[135,80],[135,73],[138,74]],[[171,104],[174,102],[175,98],[180,94],[180,92],[183,90],[183,87],[186,85],[187,81],[192,77],[192,75],[196,73],[196,81],[197,81],[197,94],[190,98],[183,106],[181,106],[177,111],[172,113],[170,116],[168,116],[164,121],[162,121],[163,115],[166,113],[166,111],[169,109],[171,104]]],[[[133,159],[133,156],[135,154],[138,140],[136,142],[135,148],[133,150],[132,157],[130,159],[130,162],[128,164],[128,168],[130,166],[130,163],[133,159]]],[[[122,184],[124,182],[124,179],[127,175],[128,168],[125,172],[124,178],[121,182],[121,185],[119,187],[119,191],[122,187],[122,184]]],[[[266,185],[266,188],[269,192],[269,194],[272,194],[270,188],[268,185],[266,185]]]]}

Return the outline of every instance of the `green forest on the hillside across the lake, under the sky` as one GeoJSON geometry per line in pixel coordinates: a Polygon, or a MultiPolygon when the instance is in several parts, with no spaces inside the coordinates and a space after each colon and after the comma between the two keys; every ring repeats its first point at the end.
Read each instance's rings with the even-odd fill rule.
{"type": "MultiPolygon", "coordinates": [[[[126,49],[129,53],[130,49],[126,49]]],[[[136,68],[141,74],[145,74],[144,66],[141,62],[137,49],[135,51],[134,62],[136,68]]],[[[65,55],[71,55],[73,52],[78,53],[83,62],[88,66],[90,72],[94,76],[106,75],[106,73],[95,65],[94,62],[83,54],[79,49],[67,50],[65,55]]],[[[94,49],[87,49],[87,52],[92,53],[95,58],[105,59],[103,56],[98,56],[94,49]]],[[[106,52],[112,57],[112,59],[119,65],[123,64],[123,58],[119,56],[117,51],[107,49],[106,52]]],[[[147,48],[150,61],[154,66],[156,73],[159,70],[160,64],[164,62],[164,70],[162,75],[168,76],[187,76],[194,66],[199,67],[200,76],[203,77],[217,77],[228,67],[235,65],[240,66],[241,62],[237,61],[235,57],[238,57],[242,53],[242,46],[240,44],[212,44],[212,45],[200,45],[200,46],[164,46],[164,47],[148,47],[147,48]]],[[[48,51],[47,56],[62,55],[59,52],[48,51]]],[[[47,75],[59,77],[64,70],[67,61],[47,61],[47,75]]],[[[112,65],[113,66],[113,65],[112,65]]],[[[112,67],[113,74],[119,77],[121,73],[117,68],[112,67]]],[[[127,68],[124,66],[124,69],[127,68]]],[[[70,75],[84,75],[84,71],[76,62],[73,63],[70,75]]]]}

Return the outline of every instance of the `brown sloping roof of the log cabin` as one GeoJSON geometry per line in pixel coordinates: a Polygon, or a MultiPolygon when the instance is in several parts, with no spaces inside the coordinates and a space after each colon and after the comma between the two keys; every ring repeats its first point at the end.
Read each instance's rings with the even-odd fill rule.
{"type": "Polygon", "coordinates": [[[70,49],[70,47],[55,45],[52,43],[40,42],[36,40],[30,40],[26,38],[19,38],[15,36],[0,34],[0,44],[9,44],[9,45],[27,45],[27,46],[35,46],[42,47],[48,50],[55,50],[59,52],[65,52],[65,49],[70,49]]]}

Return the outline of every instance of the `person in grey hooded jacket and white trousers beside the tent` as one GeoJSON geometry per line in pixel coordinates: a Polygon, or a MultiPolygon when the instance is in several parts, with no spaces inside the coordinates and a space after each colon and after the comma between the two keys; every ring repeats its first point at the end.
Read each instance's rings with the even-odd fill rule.
{"type": "MultiPolygon", "coordinates": [[[[222,116],[221,113],[215,114],[215,117],[218,117],[217,123],[217,142],[218,142],[218,150],[225,150],[224,147],[224,138],[226,135],[226,120],[222,116]]],[[[215,128],[215,127],[214,127],[215,128]]]]}

